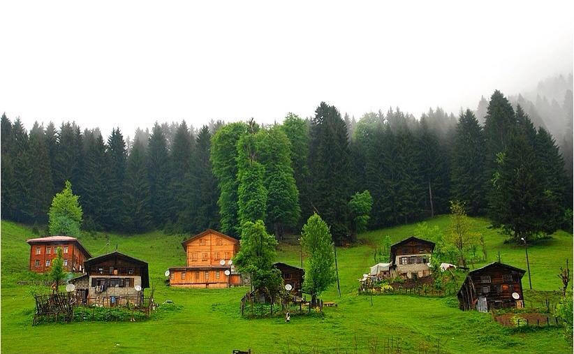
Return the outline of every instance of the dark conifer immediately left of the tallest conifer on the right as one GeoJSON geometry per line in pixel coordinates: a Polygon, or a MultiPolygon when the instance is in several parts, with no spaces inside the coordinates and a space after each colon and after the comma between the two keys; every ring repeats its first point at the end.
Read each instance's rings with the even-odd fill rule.
{"type": "Polygon", "coordinates": [[[451,194],[462,202],[469,214],[486,211],[485,139],[478,119],[471,110],[462,113],[452,149],[451,194]]]}

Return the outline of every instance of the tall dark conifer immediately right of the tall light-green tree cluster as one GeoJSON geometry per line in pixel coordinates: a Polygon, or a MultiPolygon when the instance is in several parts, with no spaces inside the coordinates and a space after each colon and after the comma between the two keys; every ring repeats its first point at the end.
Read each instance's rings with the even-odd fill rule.
{"type": "Polygon", "coordinates": [[[341,114],[324,102],[311,122],[309,172],[311,205],[331,226],[335,242],[348,239],[349,150],[341,114]]]}

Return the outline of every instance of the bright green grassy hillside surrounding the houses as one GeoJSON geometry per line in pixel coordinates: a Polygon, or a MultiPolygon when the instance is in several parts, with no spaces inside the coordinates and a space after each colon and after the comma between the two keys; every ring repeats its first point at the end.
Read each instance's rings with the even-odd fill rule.
{"type": "MultiPolygon", "coordinates": [[[[441,229],[447,216],[428,221],[441,229]]],[[[503,237],[487,228],[488,222],[473,219],[473,228],[485,235],[489,261],[498,252],[505,263],[526,269],[524,248],[503,244],[503,237]]],[[[371,231],[360,235],[360,244],[337,249],[341,293],[336,286],[324,295],[325,301],[339,304],[325,309],[325,316],[297,317],[291,323],[282,318],[247,320],[240,316],[240,298],[246,288],[219,290],[175,289],[163,285],[163,272],[184,265],[182,235],[147,233],[83,237],[82,244],[94,256],[115,249],[149,263],[150,281],[155,283],[156,300],[173,300],[181,311],[164,314],[143,323],[72,323],[31,326],[34,300],[31,286],[17,281],[38,279],[27,271],[30,228],[1,222],[1,350],[3,353],[230,353],[233,349],[253,353],[369,353],[383,342],[400,338],[404,353],[427,348],[436,353],[571,353],[557,328],[520,333],[495,323],[490,314],[463,312],[454,297],[425,298],[409,295],[358,296],[357,279],[373,263],[375,246],[390,235],[393,242],[413,234],[416,225],[371,231]],[[108,242],[110,246],[106,246],[108,242]]],[[[559,232],[543,244],[529,247],[532,283],[535,290],[558,290],[559,267],[572,258],[572,235],[559,232]]],[[[298,265],[299,247],[281,244],[279,259],[298,265]]],[[[41,276],[40,276],[41,277],[41,276]]],[[[523,279],[528,288],[527,276],[523,279]]],[[[534,293],[527,291],[525,301],[534,293]]]]}

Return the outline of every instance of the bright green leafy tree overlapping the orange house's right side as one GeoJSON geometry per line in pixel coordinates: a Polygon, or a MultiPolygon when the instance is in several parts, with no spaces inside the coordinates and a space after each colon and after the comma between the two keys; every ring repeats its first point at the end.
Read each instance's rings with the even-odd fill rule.
{"type": "Polygon", "coordinates": [[[263,221],[242,223],[240,251],[233,262],[237,270],[249,274],[253,289],[274,296],[281,288],[281,272],[273,266],[277,240],[267,233],[263,221]]]}

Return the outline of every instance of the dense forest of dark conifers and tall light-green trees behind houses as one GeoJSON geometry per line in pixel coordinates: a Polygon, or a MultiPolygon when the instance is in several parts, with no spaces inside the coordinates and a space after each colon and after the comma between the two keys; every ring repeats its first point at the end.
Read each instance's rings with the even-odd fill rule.
{"type": "Polygon", "coordinates": [[[45,224],[69,181],[84,230],[239,237],[240,223],[260,219],[280,238],[316,212],[343,244],[353,242],[349,201],[369,191],[369,228],[445,214],[459,200],[509,238],[540,237],[571,230],[573,195],[572,118],[560,148],[540,121],[522,96],[500,91],[458,117],[391,108],[355,120],[321,103],[313,117],[290,113],[281,124],[182,121],[138,128],[133,139],[73,122],[27,131],[2,115],[1,217],[45,224]]]}

